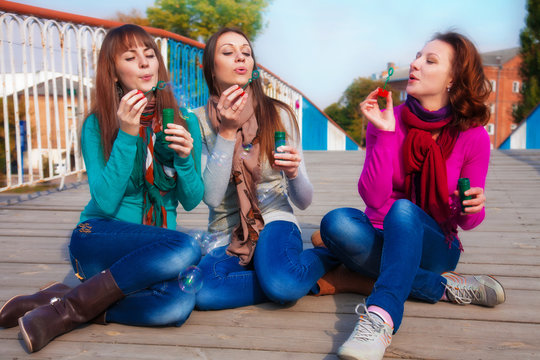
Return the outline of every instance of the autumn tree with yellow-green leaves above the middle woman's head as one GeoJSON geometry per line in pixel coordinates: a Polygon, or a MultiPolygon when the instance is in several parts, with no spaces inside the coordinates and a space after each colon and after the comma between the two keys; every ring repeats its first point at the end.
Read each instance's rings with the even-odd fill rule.
{"type": "Polygon", "coordinates": [[[146,10],[150,25],[192,39],[208,39],[223,26],[240,28],[253,40],[263,29],[271,0],[156,0],[146,10]]]}

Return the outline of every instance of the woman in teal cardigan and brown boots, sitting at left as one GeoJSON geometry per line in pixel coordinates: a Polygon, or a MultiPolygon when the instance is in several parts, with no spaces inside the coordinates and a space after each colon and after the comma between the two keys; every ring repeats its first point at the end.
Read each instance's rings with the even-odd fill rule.
{"type": "Polygon", "coordinates": [[[204,187],[190,156],[191,135],[172,91],[161,86],[167,81],[146,31],[136,25],[109,31],[81,134],[91,199],[69,246],[83,283],[74,289],[56,283],[0,311],[0,326],[8,327],[34,308],[19,319],[30,352],[93,319],[180,326],[191,313],[195,295],[180,290],[177,276],[199,262],[201,251],[176,231],[176,207],[196,207],[204,187]],[[175,109],[166,128],[165,108],[175,109]]]}

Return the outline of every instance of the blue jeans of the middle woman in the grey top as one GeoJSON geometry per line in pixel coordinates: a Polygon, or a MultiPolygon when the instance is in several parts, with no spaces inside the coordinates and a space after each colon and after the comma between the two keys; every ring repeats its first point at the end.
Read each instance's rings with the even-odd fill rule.
{"type": "Polygon", "coordinates": [[[239,259],[227,255],[226,249],[214,249],[199,264],[204,279],[197,293],[196,306],[200,310],[296,301],[339,264],[328,249],[304,251],[300,230],[289,221],[266,224],[250,265],[240,265],[239,259]]]}

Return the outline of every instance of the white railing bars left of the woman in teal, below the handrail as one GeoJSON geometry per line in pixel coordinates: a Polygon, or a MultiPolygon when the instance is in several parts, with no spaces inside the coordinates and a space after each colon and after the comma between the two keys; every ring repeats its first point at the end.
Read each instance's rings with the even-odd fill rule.
{"type": "Polygon", "coordinates": [[[105,30],[0,15],[0,191],[84,171],[78,133],[105,30]]]}

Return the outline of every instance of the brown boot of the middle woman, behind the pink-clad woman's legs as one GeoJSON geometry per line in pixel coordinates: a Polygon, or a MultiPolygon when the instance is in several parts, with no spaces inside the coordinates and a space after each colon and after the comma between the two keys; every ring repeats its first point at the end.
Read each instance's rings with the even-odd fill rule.
{"type": "Polygon", "coordinates": [[[340,293],[371,294],[375,280],[349,270],[341,264],[317,281],[319,293],[315,296],[340,293]]]}

